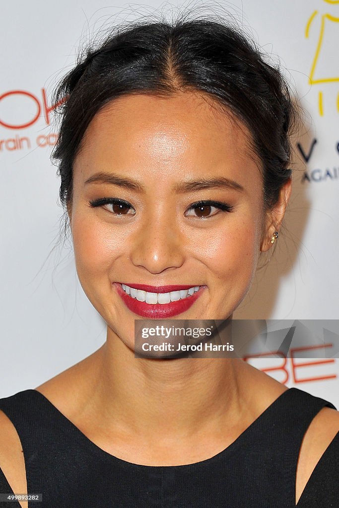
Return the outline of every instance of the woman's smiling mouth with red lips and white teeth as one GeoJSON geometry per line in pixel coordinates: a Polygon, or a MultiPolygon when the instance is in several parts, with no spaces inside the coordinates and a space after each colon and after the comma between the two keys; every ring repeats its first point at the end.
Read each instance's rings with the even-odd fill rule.
{"type": "Polygon", "coordinates": [[[127,307],[142,317],[160,319],[172,317],[189,309],[206,286],[122,284],[113,287],[127,307]]]}

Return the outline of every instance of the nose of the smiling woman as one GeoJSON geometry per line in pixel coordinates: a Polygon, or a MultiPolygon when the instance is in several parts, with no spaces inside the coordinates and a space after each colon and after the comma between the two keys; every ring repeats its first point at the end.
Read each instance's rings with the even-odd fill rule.
{"type": "Polygon", "coordinates": [[[182,233],[173,220],[149,220],[130,241],[132,263],[150,273],[179,268],[184,262],[182,233]]]}

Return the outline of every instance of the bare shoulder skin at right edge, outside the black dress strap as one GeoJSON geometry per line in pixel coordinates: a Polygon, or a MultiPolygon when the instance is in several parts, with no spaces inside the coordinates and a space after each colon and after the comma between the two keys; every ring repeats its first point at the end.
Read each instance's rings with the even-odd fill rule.
{"type": "Polygon", "coordinates": [[[296,501],[338,432],[339,411],[331,407],[323,407],[312,420],[301,443],[296,473],[296,501]]]}

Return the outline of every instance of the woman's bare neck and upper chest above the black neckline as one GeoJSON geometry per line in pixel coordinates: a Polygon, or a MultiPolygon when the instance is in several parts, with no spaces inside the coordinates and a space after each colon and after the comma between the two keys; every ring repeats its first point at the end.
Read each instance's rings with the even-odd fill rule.
{"type": "Polygon", "coordinates": [[[117,336],[37,388],[90,440],[147,465],[229,446],[286,390],[241,359],[137,359],[117,336]]]}

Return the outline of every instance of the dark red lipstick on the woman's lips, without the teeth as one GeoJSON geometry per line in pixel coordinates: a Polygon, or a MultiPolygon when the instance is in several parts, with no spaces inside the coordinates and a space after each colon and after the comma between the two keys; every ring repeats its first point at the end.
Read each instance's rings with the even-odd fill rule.
{"type": "MultiPolygon", "coordinates": [[[[178,300],[176,302],[149,304],[146,302],[139,302],[136,298],[132,298],[130,295],[127,295],[118,282],[113,282],[112,286],[121,297],[121,300],[132,312],[139,316],[150,319],[173,317],[175,315],[181,314],[182,312],[185,312],[194,304],[194,302],[197,301],[197,299],[206,288],[206,286],[201,286],[198,291],[193,293],[192,296],[188,296],[187,298],[183,298],[182,300],[178,300]]],[[[133,283],[130,285],[130,287],[134,289],[140,289],[142,291],[148,291],[150,293],[170,293],[171,291],[188,290],[193,286],[180,284],[159,287],[133,283]]]]}

